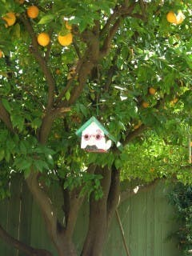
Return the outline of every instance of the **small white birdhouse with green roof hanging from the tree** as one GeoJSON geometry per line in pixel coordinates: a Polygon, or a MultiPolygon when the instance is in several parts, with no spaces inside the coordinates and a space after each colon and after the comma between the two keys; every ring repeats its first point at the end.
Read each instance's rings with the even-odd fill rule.
{"type": "Polygon", "coordinates": [[[97,118],[90,118],[76,134],[82,138],[81,148],[89,152],[107,152],[115,142],[113,136],[105,129],[97,118]],[[110,138],[107,140],[107,138],[110,138]]]}

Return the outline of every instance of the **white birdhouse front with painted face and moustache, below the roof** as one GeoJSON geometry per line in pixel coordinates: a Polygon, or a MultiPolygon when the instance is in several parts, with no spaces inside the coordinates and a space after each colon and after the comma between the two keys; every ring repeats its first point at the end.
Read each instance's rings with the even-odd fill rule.
{"type": "Polygon", "coordinates": [[[82,131],[81,148],[90,152],[106,152],[111,142],[106,142],[104,132],[95,122],[82,131]]]}

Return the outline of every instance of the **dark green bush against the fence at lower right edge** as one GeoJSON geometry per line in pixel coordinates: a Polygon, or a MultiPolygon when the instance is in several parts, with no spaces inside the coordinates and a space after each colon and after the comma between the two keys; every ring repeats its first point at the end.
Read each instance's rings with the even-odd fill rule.
{"type": "Polygon", "coordinates": [[[190,255],[192,249],[192,187],[179,182],[170,192],[170,203],[174,205],[179,229],[173,234],[178,239],[182,255],[190,255]]]}

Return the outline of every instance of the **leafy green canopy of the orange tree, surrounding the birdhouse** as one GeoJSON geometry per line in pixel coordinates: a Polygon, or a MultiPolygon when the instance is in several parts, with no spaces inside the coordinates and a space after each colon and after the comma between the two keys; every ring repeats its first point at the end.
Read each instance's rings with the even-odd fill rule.
{"type": "MultiPolygon", "coordinates": [[[[0,180],[5,178],[5,170],[8,177],[11,170],[27,177],[33,169],[47,179],[64,181],[66,189],[82,186],[82,194],[96,190],[96,197],[100,198],[101,177],[86,176],[85,171],[96,163],[121,169],[122,180],[151,181],[175,176],[184,183],[191,182],[190,172],[183,167],[188,154],[186,127],[192,126],[191,4],[146,1],[145,19],[136,15],[142,14],[136,2],[133,15],[122,15],[109,53],[94,63],[81,95],[72,105],[73,91],[78,91],[82,79],[75,69],[80,58],[86,61],[86,50],[93,43],[87,42],[86,33],[93,29],[96,33],[95,25],[101,32],[122,1],[38,1],[38,18],[30,19],[30,23],[35,35],[46,31],[51,42],[47,47],[37,46],[35,51],[22,22],[30,4],[0,1],[1,17],[10,11],[16,14],[14,26],[6,27],[0,19],[0,101],[14,128],[11,133],[0,122],[0,180]],[[166,21],[169,10],[182,10],[186,16],[182,24],[166,21]],[[73,44],[66,47],[57,39],[59,33],[66,31],[64,19],[73,27],[74,38],[73,44]],[[41,54],[54,79],[54,106],[61,95],[62,103],[70,105],[70,112],[56,118],[46,145],[39,142],[39,134],[47,111],[49,83],[45,66],[39,65],[35,53],[41,54]],[[155,94],[150,94],[150,87],[156,90],[155,94]],[[142,102],[148,102],[149,107],[143,107],[142,102]],[[150,132],[141,132],[122,152],[113,146],[107,154],[88,154],[80,149],[75,131],[96,114],[122,144],[137,133],[138,124],[150,128],[150,132]]],[[[109,28],[112,26],[111,23],[109,28]]],[[[109,34],[109,30],[99,34],[100,50],[109,34]]]]}

